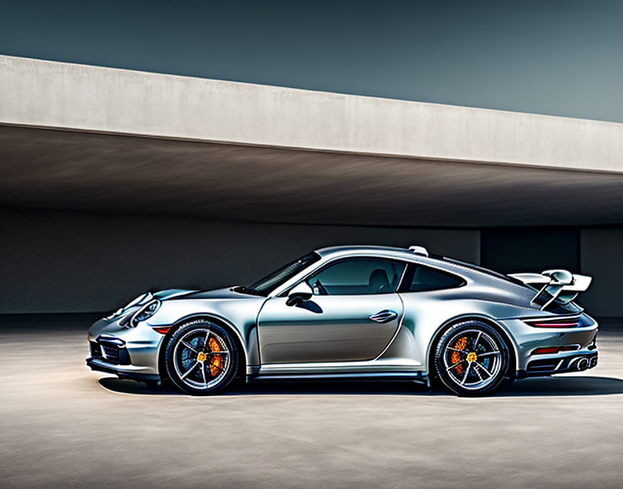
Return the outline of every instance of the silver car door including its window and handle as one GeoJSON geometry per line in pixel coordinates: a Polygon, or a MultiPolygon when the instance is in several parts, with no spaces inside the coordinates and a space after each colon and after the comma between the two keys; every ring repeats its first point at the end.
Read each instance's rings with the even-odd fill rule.
{"type": "Polygon", "coordinates": [[[396,286],[405,265],[382,258],[343,258],[305,281],[307,301],[272,297],[261,308],[261,363],[371,360],[393,338],[403,316],[396,286]]]}

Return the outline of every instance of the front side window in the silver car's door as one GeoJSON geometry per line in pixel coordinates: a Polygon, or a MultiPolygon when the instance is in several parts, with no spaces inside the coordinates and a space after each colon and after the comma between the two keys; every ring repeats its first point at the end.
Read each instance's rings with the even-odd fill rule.
{"type": "Polygon", "coordinates": [[[346,258],[314,274],[314,295],[387,294],[396,290],[405,265],[376,258],[346,258]]]}

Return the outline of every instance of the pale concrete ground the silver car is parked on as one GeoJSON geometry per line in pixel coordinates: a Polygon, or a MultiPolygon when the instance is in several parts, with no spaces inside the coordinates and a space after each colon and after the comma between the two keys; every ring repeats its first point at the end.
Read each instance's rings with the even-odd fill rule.
{"type": "Polygon", "coordinates": [[[589,372],[485,399],[410,383],[188,397],[90,372],[85,335],[0,329],[2,488],[621,487],[623,334],[601,334],[589,372]]]}

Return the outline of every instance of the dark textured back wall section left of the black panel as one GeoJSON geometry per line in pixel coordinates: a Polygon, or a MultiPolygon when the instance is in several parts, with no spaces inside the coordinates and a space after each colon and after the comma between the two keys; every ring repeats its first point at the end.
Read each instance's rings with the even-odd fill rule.
{"type": "Polygon", "coordinates": [[[117,308],[145,290],[248,284],[311,249],[423,244],[478,262],[478,231],[213,222],[0,208],[0,313],[117,308]]]}

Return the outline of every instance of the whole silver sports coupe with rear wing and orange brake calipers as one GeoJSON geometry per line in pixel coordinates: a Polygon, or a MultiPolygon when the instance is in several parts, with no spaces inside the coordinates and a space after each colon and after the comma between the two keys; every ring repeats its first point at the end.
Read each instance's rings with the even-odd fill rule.
{"type": "Polygon", "coordinates": [[[213,394],[247,381],[441,381],[484,395],[508,378],[597,365],[590,277],[503,275],[425,248],[330,247],[220,290],[147,292],[93,324],[92,370],[213,394]]]}

